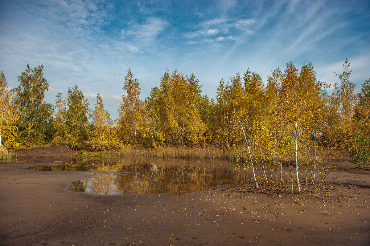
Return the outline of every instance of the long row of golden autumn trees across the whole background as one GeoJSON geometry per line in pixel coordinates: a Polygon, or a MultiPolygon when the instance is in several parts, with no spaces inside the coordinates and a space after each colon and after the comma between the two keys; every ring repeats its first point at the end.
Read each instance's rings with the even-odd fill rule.
{"type": "Polygon", "coordinates": [[[44,67],[31,69],[27,64],[18,76],[19,86],[12,90],[1,72],[0,146],[14,149],[52,141],[74,148],[91,140],[98,150],[209,144],[233,149],[249,141],[253,158],[269,160],[281,158],[282,151],[292,151],[298,158],[296,152],[305,147],[365,146],[370,136],[370,79],[354,93],[349,66],[346,59],[331,94],[326,90],[329,85],[317,81],[311,62],[300,70],[289,62],[284,71],[276,68],[266,85],[249,69],[222,79],[215,99],[202,95],[194,74],[166,69],[144,100],[128,69],[118,118],[113,120],[100,93],[94,109],[89,109],[77,84],[65,97],[58,93],[54,105],[46,103],[49,85],[44,67]]]}

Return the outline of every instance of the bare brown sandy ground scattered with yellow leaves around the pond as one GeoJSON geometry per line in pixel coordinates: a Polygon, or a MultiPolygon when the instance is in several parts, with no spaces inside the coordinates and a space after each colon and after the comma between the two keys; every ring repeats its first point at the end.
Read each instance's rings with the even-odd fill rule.
{"type": "Polygon", "coordinates": [[[0,163],[0,245],[370,245],[370,171],[294,195],[97,195],[68,189],[93,174],[35,164],[0,163]]]}

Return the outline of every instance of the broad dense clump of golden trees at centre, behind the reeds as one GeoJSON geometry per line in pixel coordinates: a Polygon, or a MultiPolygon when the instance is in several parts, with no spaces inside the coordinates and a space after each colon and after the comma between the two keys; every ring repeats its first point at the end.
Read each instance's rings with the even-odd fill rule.
{"type": "Polygon", "coordinates": [[[166,69],[159,87],[152,88],[145,100],[152,119],[154,135],[162,146],[183,147],[206,145],[212,138],[206,104],[201,95],[202,86],[194,74],[184,76],[177,70],[170,74],[166,69]],[[208,119],[208,124],[205,123],[208,119]]]}

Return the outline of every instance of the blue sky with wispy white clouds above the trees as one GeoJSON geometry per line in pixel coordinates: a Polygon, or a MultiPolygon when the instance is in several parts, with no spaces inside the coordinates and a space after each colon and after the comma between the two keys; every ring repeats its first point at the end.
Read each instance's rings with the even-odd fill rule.
{"type": "Polygon", "coordinates": [[[194,72],[214,98],[221,79],[311,61],[338,82],[348,58],[357,84],[370,77],[370,1],[0,1],[0,70],[11,88],[26,64],[44,65],[45,99],[78,87],[94,107],[99,91],[117,117],[130,68],[141,99],[165,68],[194,72]]]}

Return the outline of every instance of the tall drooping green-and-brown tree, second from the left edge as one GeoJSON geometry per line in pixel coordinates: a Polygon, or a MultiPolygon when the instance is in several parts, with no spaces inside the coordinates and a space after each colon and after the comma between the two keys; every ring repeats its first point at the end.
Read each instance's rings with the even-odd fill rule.
{"type": "Polygon", "coordinates": [[[50,131],[53,107],[43,101],[44,92],[49,88],[43,69],[43,65],[31,69],[27,64],[26,70],[18,76],[19,86],[13,89],[16,94],[13,103],[18,106],[16,114],[19,117],[17,141],[27,146],[44,144],[53,134],[50,131]]]}

